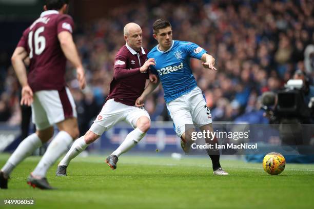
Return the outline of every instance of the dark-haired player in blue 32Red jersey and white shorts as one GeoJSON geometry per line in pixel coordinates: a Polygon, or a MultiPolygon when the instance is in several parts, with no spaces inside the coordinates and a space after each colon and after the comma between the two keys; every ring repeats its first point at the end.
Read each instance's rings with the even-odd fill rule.
{"type": "MultiPolygon", "coordinates": [[[[181,145],[185,152],[193,143],[191,132],[186,124],[196,124],[201,131],[213,131],[210,110],[206,106],[201,89],[192,74],[189,65],[190,57],[202,60],[204,68],[217,70],[215,59],[198,45],[180,40],[172,40],[171,24],[165,19],[158,19],[153,24],[153,37],[158,44],[147,55],[155,59],[155,66],[150,66],[151,72],[158,75],[158,80],[150,82],[142,95],[136,99],[135,106],[144,106],[144,101],[161,81],[167,109],[174,123],[176,134],[181,137],[181,145]]],[[[205,138],[206,143],[218,143],[217,139],[205,138]]],[[[228,175],[220,165],[219,150],[208,149],[212,161],[214,175],[228,175]]]]}

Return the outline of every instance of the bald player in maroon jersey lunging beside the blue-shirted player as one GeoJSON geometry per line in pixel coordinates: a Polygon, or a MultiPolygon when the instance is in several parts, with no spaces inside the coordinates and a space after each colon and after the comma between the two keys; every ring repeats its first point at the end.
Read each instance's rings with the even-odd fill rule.
{"type": "Polygon", "coordinates": [[[99,138],[114,124],[126,121],[134,130],[123,143],[107,159],[111,169],[116,169],[118,157],[137,144],[150,128],[150,117],[144,108],[135,107],[135,100],[145,88],[146,79],[156,80],[153,74],[148,75],[150,65],[155,65],[154,59],[147,60],[147,50],[142,47],[142,29],[135,23],[124,27],[124,45],[117,52],[114,61],[113,79],[110,83],[110,93],[100,114],[94,120],[85,136],[78,138],[69,152],[58,164],[57,176],[66,176],[66,169],[74,157],[99,138]]]}

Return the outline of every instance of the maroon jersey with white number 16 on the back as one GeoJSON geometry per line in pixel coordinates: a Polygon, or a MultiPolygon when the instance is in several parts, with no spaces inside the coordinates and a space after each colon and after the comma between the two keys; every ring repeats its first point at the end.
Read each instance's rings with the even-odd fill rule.
{"type": "Polygon", "coordinates": [[[69,15],[48,10],[27,28],[17,44],[30,58],[28,83],[32,90],[61,90],[65,87],[66,57],[58,33],[72,33],[73,20],[69,15]]]}

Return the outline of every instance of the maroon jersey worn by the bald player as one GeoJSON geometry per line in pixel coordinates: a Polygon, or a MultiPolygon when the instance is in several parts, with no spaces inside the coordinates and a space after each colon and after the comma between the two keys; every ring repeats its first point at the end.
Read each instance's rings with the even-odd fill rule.
{"type": "Polygon", "coordinates": [[[108,99],[134,106],[145,88],[148,73],[141,73],[140,67],[147,60],[147,50],[135,52],[125,45],[117,52],[114,60],[113,79],[110,83],[108,99]]]}

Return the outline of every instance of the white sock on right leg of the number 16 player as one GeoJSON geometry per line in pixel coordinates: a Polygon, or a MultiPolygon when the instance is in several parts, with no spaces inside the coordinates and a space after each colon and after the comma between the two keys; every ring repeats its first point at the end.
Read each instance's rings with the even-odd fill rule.
{"type": "Polygon", "coordinates": [[[44,156],[37,164],[33,175],[45,177],[50,166],[68,149],[72,137],[65,131],[59,132],[50,142],[44,156]]]}

